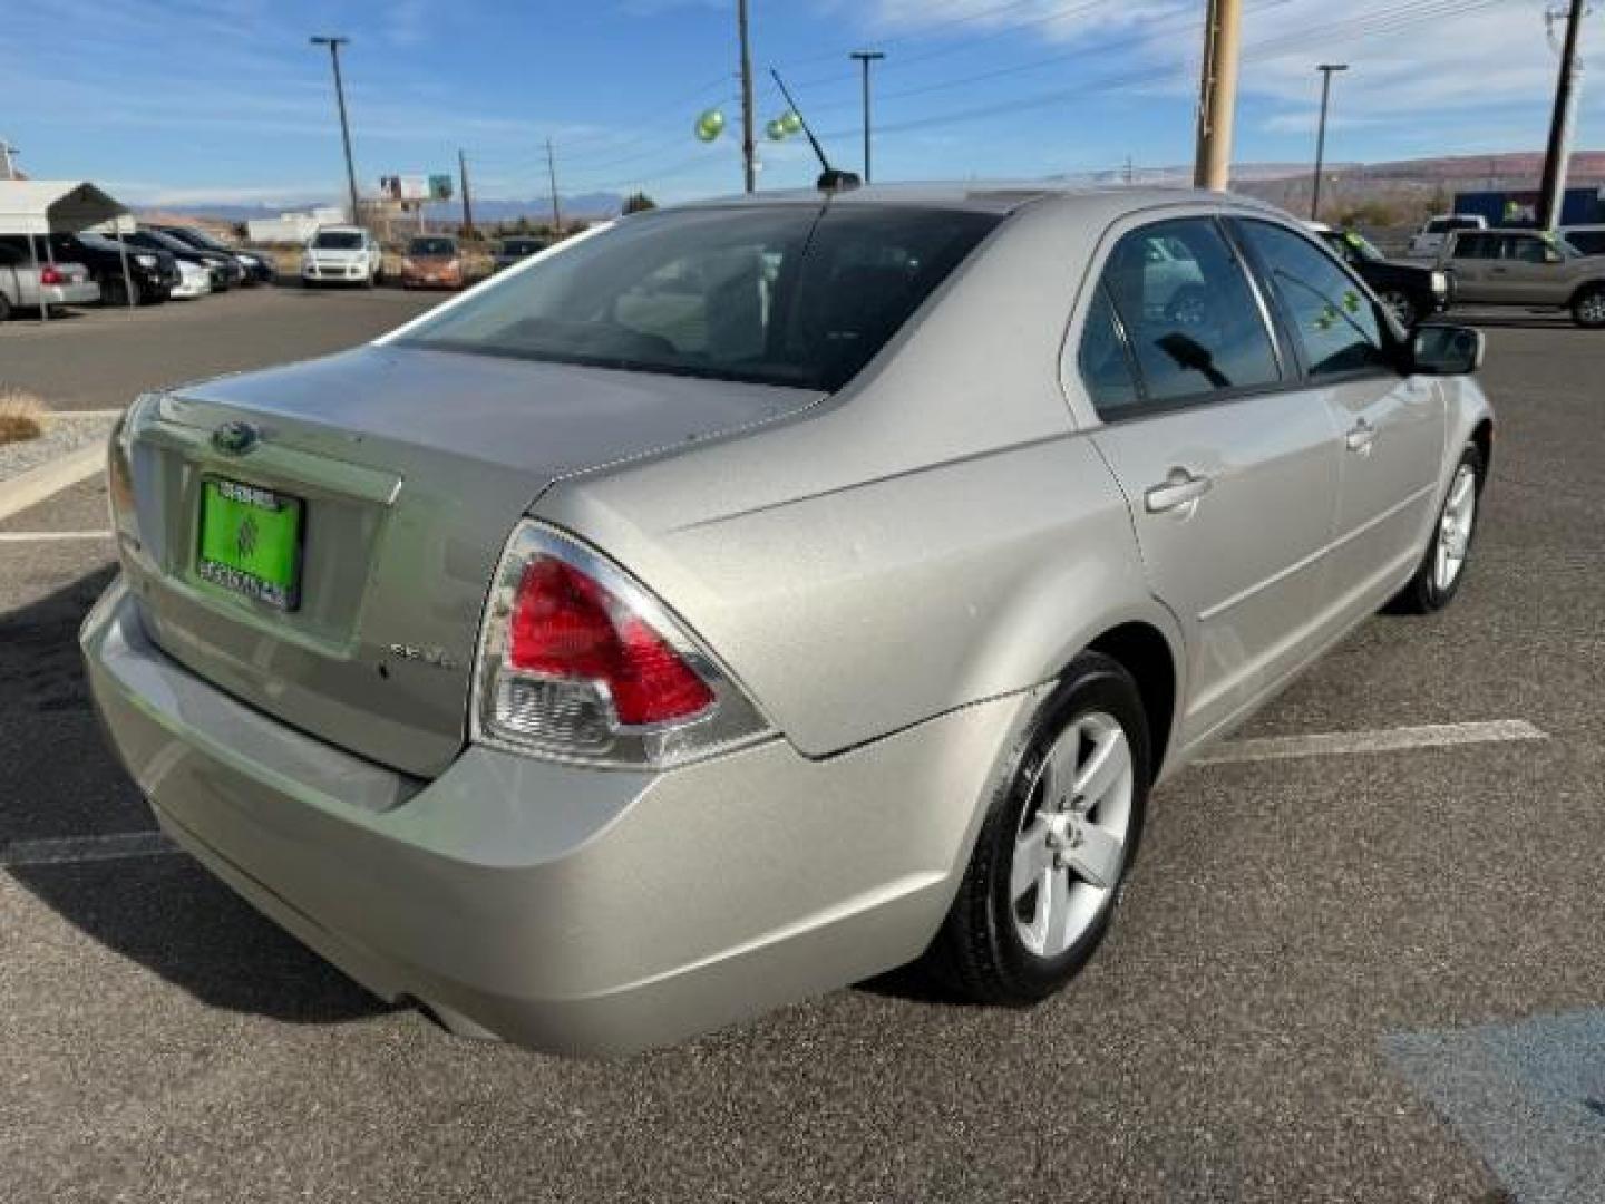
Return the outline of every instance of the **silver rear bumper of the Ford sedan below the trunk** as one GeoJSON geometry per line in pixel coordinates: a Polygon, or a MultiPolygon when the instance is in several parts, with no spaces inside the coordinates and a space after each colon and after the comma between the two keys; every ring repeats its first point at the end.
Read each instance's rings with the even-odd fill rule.
{"type": "Polygon", "coordinates": [[[916,957],[1032,695],[828,761],[772,740],[672,772],[470,746],[393,774],[220,694],[122,581],[82,642],[162,827],[262,912],[448,1027],[616,1055],[916,957]]]}

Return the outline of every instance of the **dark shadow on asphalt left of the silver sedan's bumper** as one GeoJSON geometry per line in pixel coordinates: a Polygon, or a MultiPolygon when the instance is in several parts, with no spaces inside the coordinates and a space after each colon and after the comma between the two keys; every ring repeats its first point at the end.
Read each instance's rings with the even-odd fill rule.
{"type": "Polygon", "coordinates": [[[79,624],[111,576],[96,570],[0,615],[0,867],[80,933],[207,1005],[310,1024],[393,1011],[188,856],[93,860],[91,840],[61,844],[156,827],[101,738],[79,658],[79,624]]]}

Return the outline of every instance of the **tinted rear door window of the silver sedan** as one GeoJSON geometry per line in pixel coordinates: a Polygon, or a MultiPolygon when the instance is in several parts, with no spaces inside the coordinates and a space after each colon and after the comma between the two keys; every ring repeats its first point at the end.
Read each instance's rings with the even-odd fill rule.
{"type": "Polygon", "coordinates": [[[1125,326],[1148,403],[1281,377],[1242,266],[1209,218],[1132,231],[1109,254],[1103,286],[1125,326]]]}

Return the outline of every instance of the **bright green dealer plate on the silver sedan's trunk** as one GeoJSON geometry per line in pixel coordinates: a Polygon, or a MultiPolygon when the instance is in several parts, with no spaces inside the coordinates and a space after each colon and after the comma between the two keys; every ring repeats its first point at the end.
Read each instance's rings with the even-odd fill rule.
{"type": "Polygon", "coordinates": [[[204,581],[276,610],[300,604],[300,498],[207,477],[201,482],[204,581]]]}

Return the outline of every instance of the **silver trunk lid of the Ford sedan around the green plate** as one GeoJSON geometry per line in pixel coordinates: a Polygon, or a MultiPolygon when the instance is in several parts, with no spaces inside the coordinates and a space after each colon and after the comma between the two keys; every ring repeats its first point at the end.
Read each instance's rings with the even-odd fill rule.
{"type": "Polygon", "coordinates": [[[140,543],[124,562],[175,660],[331,743],[433,775],[465,738],[496,560],[551,482],[817,397],[400,347],[223,377],[173,390],[130,433],[140,543]],[[292,610],[202,573],[205,482],[300,502],[292,610]]]}

